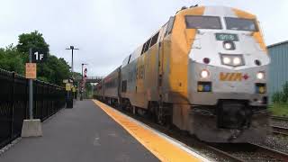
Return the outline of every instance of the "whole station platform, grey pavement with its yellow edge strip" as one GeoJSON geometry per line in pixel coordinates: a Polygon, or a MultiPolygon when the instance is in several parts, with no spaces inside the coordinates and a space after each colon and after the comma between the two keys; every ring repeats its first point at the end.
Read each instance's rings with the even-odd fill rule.
{"type": "Polygon", "coordinates": [[[208,161],[96,100],[77,101],[42,130],[43,137],[21,139],[0,161],[208,161]]]}

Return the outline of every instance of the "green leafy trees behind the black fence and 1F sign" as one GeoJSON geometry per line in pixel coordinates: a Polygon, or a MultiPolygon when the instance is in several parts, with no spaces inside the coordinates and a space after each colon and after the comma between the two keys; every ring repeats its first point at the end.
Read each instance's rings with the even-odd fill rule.
{"type": "MultiPolygon", "coordinates": [[[[33,47],[49,51],[49,45],[38,31],[21,34],[18,42],[16,47],[12,44],[5,49],[0,49],[0,68],[24,75],[25,63],[28,62],[29,48],[33,47]]],[[[51,84],[62,85],[63,79],[71,76],[69,68],[64,58],[57,58],[49,54],[46,62],[37,64],[37,79],[51,84]]]]}

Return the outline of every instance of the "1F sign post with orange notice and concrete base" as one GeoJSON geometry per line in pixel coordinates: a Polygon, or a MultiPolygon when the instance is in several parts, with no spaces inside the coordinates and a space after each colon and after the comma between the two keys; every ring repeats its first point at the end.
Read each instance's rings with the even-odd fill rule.
{"type": "Polygon", "coordinates": [[[29,79],[29,120],[23,121],[22,137],[42,136],[40,119],[33,119],[33,79],[36,79],[37,64],[43,62],[46,53],[38,49],[29,49],[29,63],[26,63],[26,78],[29,79]],[[32,63],[34,62],[34,63],[32,63]]]}

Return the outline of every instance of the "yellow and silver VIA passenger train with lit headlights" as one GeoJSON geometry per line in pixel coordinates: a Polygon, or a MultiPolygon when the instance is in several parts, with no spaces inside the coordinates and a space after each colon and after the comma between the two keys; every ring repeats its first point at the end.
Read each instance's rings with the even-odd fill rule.
{"type": "Polygon", "coordinates": [[[95,86],[95,97],[208,142],[270,133],[270,58],[254,14],[183,7],[95,86]]]}

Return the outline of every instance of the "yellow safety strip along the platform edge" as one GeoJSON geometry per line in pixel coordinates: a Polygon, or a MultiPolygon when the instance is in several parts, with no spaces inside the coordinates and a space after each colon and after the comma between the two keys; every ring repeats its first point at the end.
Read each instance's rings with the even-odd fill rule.
{"type": "Polygon", "coordinates": [[[93,100],[104,112],[106,112],[112,119],[118,122],[130,135],[137,139],[145,148],[148,148],[161,161],[201,161],[201,159],[194,157],[186,152],[184,149],[175,146],[169,140],[159,136],[152,130],[141,126],[136,121],[131,121],[128,117],[113,110],[110,106],[93,100]]]}

